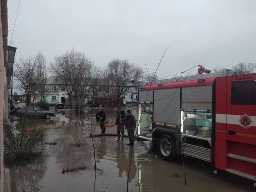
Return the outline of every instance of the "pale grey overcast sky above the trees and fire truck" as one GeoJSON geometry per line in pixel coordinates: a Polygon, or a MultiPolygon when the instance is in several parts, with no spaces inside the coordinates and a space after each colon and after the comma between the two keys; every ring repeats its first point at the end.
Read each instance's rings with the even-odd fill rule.
{"type": "Polygon", "coordinates": [[[167,49],[159,78],[256,63],[255,0],[20,0],[14,27],[18,5],[8,0],[16,58],[42,51],[49,64],[73,48],[101,67],[128,59],[153,73],[167,49]]]}

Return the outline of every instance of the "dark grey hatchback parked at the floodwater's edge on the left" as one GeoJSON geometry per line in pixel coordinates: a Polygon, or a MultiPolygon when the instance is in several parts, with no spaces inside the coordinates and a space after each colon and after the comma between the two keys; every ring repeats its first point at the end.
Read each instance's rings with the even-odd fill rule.
{"type": "Polygon", "coordinates": [[[53,111],[46,111],[37,106],[23,107],[23,108],[17,109],[16,113],[17,113],[17,116],[19,116],[20,118],[22,116],[28,116],[28,117],[44,117],[46,119],[49,119],[51,116],[54,116],[53,111]]]}

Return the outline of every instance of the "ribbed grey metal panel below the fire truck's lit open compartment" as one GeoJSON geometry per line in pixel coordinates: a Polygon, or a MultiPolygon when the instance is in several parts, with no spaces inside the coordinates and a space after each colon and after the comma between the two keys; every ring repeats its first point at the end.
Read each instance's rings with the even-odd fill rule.
{"type": "Polygon", "coordinates": [[[211,149],[182,142],[182,154],[202,159],[211,163],[211,149]]]}

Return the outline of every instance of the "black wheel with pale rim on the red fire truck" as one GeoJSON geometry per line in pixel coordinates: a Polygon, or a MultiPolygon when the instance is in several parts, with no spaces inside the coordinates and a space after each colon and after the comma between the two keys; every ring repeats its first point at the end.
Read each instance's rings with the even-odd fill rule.
{"type": "Polygon", "coordinates": [[[159,137],[158,152],[162,159],[173,161],[176,157],[176,144],[170,135],[162,134],[159,137]]]}

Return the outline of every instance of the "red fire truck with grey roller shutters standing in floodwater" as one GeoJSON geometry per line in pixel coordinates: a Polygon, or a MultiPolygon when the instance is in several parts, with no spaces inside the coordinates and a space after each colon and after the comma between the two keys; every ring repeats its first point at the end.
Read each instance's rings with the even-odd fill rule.
{"type": "Polygon", "coordinates": [[[222,72],[140,84],[138,136],[256,181],[256,73],[222,72]]]}

